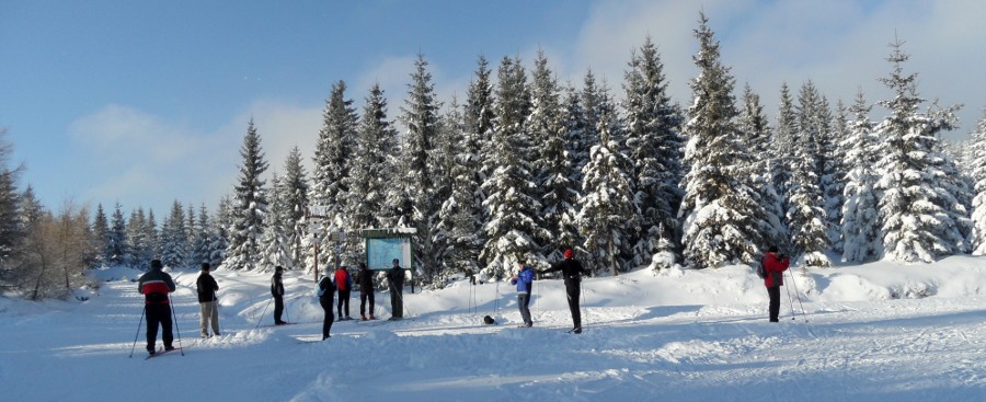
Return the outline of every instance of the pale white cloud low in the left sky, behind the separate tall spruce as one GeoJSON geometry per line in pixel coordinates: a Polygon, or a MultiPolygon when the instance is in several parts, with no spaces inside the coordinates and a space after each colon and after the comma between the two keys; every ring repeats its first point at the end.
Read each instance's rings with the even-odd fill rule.
{"type": "Polygon", "coordinates": [[[319,107],[256,101],[215,131],[202,133],[133,107],[107,105],[70,126],[78,154],[85,154],[74,163],[87,174],[69,184],[76,188],[66,191],[104,208],[119,202],[125,210],[138,206],[153,209],[159,219],[175,199],[196,208],[204,203],[214,209],[222,195],[232,192],[251,117],[271,165],[268,172],[283,172],[295,146],[302,156],[313,154],[321,124],[319,107]]]}

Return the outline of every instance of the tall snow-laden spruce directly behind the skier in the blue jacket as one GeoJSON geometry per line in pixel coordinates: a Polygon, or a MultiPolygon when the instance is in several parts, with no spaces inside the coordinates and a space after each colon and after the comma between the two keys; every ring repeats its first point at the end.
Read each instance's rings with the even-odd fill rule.
{"type": "Polygon", "coordinates": [[[544,266],[536,239],[548,238],[539,214],[542,204],[532,196],[537,183],[531,172],[530,137],[526,120],[530,114],[530,92],[520,60],[504,57],[498,70],[496,125],[489,151],[495,169],[483,183],[483,207],[489,220],[483,230],[486,242],[480,253],[488,276],[503,277],[518,260],[544,266]]]}

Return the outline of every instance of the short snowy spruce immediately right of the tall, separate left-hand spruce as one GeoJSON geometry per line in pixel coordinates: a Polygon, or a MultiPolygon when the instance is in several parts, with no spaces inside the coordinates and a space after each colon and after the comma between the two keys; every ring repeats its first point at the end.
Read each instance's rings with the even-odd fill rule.
{"type": "Polygon", "coordinates": [[[264,216],[264,237],[257,264],[257,268],[262,271],[273,272],[278,265],[285,269],[295,267],[286,234],[293,225],[285,204],[285,192],[284,180],[275,172],[271,177],[271,192],[267,193],[267,214],[264,216]]]}

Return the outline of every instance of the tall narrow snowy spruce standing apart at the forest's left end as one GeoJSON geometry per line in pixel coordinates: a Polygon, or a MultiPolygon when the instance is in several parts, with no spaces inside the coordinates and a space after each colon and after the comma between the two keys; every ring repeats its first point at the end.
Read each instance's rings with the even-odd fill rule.
{"type": "Polygon", "coordinates": [[[267,170],[261,150],[260,135],[253,120],[246,127],[243,147],[240,148],[243,164],[239,183],[234,187],[231,209],[232,227],[229,230],[229,248],[222,266],[229,269],[252,271],[261,266],[261,239],[264,234],[264,217],[267,214],[267,188],[261,175],[267,170]]]}

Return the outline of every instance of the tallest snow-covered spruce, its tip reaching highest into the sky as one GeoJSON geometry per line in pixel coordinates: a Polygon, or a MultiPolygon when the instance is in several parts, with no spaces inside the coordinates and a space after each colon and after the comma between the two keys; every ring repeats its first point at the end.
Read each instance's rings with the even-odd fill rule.
{"type": "Polygon", "coordinates": [[[734,79],[720,61],[704,13],[699,23],[700,49],[693,57],[699,76],[691,82],[695,99],[684,128],[689,166],[679,211],[685,262],[695,268],[753,263],[769,245],[771,227],[750,179],[755,160],[735,123],[734,79]]]}

